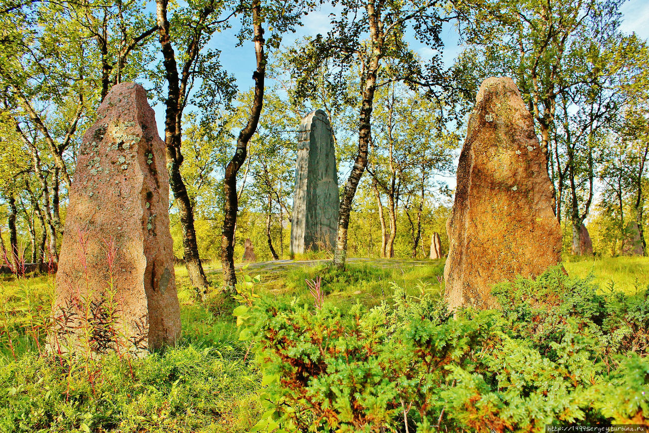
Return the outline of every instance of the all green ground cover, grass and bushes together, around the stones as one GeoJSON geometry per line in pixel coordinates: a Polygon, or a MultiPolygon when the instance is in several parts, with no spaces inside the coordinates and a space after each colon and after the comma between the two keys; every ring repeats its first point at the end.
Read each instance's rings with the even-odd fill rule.
{"type": "Polygon", "coordinates": [[[213,290],[205,303],[177,267],[177,346],[144,359],[91,361],[44,348],[53,278],[8,278],[0,285],[0,431],[646,425],[643,265],[649,259],[567,260],[570,276],[498,285],[502,311],[456,319],[440,296],[439,261],[242,273],[238,300],[213,290]]]}

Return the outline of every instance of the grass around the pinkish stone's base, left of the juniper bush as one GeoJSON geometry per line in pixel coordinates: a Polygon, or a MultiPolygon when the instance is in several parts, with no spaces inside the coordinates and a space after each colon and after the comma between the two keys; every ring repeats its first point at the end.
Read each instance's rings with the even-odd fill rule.
{"type": "Polygon", "coordinates": [[[227,314],[193,301],[178,269],[182,335],[144,359],[43,350],[52,277],[0,284],[0,432],[247,432],[261,374],[227,314]],[[40,344],[38,347],[37,343],[40,344]]]}

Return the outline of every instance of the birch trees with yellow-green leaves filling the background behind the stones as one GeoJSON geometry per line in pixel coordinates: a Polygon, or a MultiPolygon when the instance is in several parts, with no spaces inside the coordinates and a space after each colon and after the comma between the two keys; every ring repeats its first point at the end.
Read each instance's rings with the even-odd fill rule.
{"type": "Polygon", "coordinates": [[[56,263],[82,132],[110,86],[138,81],[165,108],[172,231],[201,298],[206,259],[234,290],[246,237],[261,257],[288,256],[296,130],[312,109],[334,127],[334,265],[348,252],[426,256],[432,232],[444,237],[465,114],[491,75],[512,77],[533,115],[571,252],[587,220],[602,254],[624,252],[631,221],[646,252],[649,50],[620,31],[620,3],[3,0],[3,255],[56,263]],[[330,31],[282,44],[319,7],[330,31]],[[448,68],[444,25],[464,44],[448,68]],[[255,60],[238,81],[250,88],[221,64],[228,29],[255,60]]]}

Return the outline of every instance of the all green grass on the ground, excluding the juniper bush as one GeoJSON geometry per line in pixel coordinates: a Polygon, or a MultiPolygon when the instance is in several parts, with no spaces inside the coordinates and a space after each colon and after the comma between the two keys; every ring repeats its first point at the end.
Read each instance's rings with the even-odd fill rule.
{"type": "MultiPolygon", "coordinates": [[[[411,294],[421,285],[441,291],[443,265],[441,260],[389,259],[351,263],[346,272],[326,264],[247,272],[260,274],[258,293],[296,296],[308,303],[313,297],[305,280],[321,277],[324,301],[349,308],[389,300],[395,285],[411,294]]],[[[565,268],[571,276],[592,272],[602,289],[613,282],[616,289],[633,292],[649,284],[648,257],[567,257],[565,268]]],[[[219,269],[210,273],[214,288],[205,304],[195,302],[186,269],[177,266],[175,271],[182,321],[177,346],[132,362],[106,356],[79,369],[34,356],[40,352],[35,341],[42,343],[42,334],[34,329],[51,309],[53,278],[0,282],[0,431],[249,430],[262,413],[262,378],[247,345],[238,339],[234,302],[219,293],[219,269]]]]}

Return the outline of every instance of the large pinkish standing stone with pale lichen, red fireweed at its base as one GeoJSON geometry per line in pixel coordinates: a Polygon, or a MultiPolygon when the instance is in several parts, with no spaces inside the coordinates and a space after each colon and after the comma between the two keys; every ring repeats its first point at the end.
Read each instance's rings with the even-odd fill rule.
{"type": "Polygon", "coordinates": [[[77,155],[56,274],[55,350],[75,325],[92,330],[100,352],[143,354],[176,341],[180,307],[165,155],[144,88],[113,86],[77,155]],[[65,319],[79,317],[88,304],[88,321],[65,319]]]}

